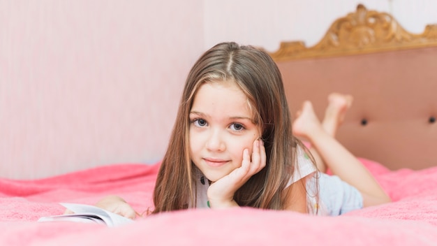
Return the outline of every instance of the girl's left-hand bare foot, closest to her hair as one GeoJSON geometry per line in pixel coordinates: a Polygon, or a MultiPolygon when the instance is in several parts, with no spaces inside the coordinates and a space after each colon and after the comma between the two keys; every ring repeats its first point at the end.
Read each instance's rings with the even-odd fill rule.
{"type": "Polygon", "coordinates": [[[292,132],[297,137],[311,139],[314,134],[324,131],[322,124],[314,113],[313,104],[310,101],[304,101],[302,109],[299,110],[297,118],[292,124],[292,132]]]}

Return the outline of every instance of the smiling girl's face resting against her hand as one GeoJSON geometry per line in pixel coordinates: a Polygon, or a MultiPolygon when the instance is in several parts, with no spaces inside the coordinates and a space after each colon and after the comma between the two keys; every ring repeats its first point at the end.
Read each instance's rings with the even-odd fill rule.
{"type": "Polygon", "coordinates": [[[243,150],[251,154],[260,137],[247,97],[232,80],[201,85],[189,117],[191,160],[212,182],[242,166],[243,150]]]}

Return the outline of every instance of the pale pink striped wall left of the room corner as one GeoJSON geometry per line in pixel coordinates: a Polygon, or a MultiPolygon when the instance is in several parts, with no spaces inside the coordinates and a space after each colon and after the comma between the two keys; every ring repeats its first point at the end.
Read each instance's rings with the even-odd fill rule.
{"type": "Polygon", "coordinates": [[[0,176],[161,159],[202,1],[0,1],[0,176]]]}

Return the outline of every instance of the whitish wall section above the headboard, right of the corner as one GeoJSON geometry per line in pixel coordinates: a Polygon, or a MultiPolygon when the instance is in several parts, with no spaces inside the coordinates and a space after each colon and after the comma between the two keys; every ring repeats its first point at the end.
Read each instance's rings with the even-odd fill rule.
{"type": "Polygon", "coordinates": [[[205,47],[237,41],[279,48],[281,41],[318,43],[336,18],[355,12],[358,3],[368,10],[387,12],[413,33],[425,24],[437,24],[435,0],[207,0],[205,1],[205,47]]]}

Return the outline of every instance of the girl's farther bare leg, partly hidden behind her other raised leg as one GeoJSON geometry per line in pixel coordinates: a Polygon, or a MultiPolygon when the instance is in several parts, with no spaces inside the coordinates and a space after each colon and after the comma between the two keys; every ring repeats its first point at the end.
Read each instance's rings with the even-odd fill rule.
{"type": "MultiPolygon", "coordinates": [[[[353,97],[346,94],[332,93],[328,96],[328,106],[323,118],[323,129],[332,137],[335,137],[336,131],[341,125],[346,115],[346,110],[350,108],[353,97]]],[[[310,152],[316,159],[316,164],[320,172],[326,173],[327,166],[318,154],[316,148],[310,147],[310,152]]]]}

